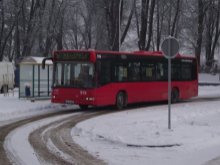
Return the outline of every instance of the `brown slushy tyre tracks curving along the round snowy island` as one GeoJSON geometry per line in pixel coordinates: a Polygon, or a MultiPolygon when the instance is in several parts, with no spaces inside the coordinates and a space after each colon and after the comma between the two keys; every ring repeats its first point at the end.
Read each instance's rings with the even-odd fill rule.
{"type": "Polygon", "coordinates": [[[62,122],[50,123],[32,132],[29,137],[30,143],[39,157],[49,164],[106,164],[74,143],[71,136],[71,129],[78,122],[106,113],[109,112],[83,113],[71,116],[62,122]]]}

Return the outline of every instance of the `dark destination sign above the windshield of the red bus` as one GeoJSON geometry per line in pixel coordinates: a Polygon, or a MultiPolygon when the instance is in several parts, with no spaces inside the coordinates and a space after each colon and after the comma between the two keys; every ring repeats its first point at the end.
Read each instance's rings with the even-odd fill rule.
{"type": "Polygon", "coordinates": [[[90,58],[89,52],[55,52],[57,60],[79,60],[88,61],[90,58]]]}

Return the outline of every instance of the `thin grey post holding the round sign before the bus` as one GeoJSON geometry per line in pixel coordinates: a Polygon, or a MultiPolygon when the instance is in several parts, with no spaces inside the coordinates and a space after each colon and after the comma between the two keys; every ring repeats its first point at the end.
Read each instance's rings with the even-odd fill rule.
{"type": "Polygon", "coordinates": [[[171,129],[171,42],[168,42],[168,129],[171,129]]]}

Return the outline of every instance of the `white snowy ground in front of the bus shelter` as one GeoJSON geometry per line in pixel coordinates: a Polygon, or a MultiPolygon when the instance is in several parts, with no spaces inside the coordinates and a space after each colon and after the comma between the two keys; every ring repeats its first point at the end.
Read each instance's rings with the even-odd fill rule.
{"type": "Polygon", "coordinates": [[[10,91],[8,95],[0,94],[0,125],[8,120],[25,118],[37,114],[56,112],[76,106],[52,104],[50,100],[36,100],[18,98],[18,89],[10,91]]]}

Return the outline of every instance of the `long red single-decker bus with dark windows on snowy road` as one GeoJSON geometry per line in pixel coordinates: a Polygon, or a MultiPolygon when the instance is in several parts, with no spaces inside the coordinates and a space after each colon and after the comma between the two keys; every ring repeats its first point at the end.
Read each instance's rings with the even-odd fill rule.
{"type": "MultiPolygon", "coordinates": [[[[168,62],[161,52],[96,50],[55,51],[52,102],[88,106],[127,104],[168,99],[168,62]]],[[[172,59],[172,102],[198,95],[197,61],[172,59]]]]}

